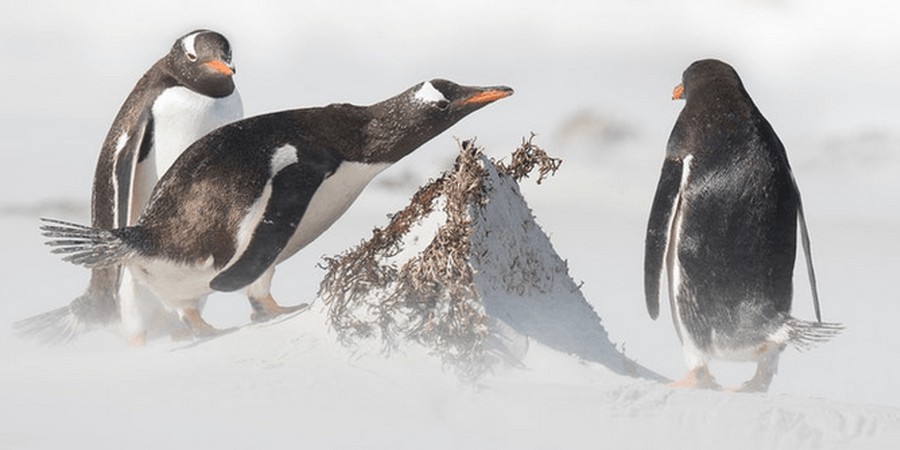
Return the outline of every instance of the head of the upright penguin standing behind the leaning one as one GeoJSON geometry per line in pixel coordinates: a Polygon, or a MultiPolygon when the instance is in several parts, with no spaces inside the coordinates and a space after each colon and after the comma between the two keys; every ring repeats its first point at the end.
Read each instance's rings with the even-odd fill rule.
{"type": "Polygon", "coordinates": [[[172,45],[165,66],[178,84],[210,97],[234,92],[231,46],[215,31],[195,30],[172,45]]]}

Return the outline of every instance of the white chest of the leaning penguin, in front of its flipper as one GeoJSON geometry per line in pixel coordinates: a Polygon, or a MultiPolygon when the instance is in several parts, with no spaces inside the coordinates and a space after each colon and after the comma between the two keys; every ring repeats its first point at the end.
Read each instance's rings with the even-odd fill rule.
{"type": "Polygon", "coordinates": [[[331,226],[372,178],[388,168],[390,163],[365,164],[344,161],[337,171],[326,178],[313,195],[297,231],[278,255],[276,263],[284,261],[319,237],[331,226]]]}

